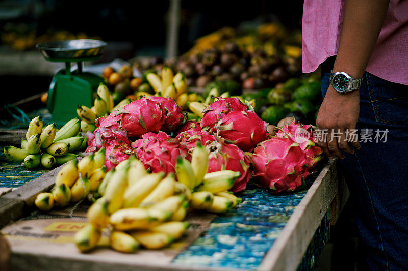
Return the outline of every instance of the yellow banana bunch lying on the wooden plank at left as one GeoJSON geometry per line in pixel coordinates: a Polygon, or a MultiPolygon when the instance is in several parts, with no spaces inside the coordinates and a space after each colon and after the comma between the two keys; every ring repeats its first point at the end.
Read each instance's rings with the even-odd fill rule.
{"type": "Polygon", "coordinates": [[[55,186],[50,193],[41,193],[35,200],[40,210],[50,210],[54,203],[66,206],[70,202],[85,199],[89,193],[96,192],[106,175],[105,148],[84,157],[79,162],[70,160],[58,172],[55,186]]]}

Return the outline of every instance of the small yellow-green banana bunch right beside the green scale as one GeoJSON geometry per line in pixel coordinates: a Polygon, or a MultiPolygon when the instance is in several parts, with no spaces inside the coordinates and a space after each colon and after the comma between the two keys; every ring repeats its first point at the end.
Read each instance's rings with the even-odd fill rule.
{"type": "Polygon", "coordinates": [[[85,105],[78,105],[77,114],[82,119],[81,132],[93,132],[96,129],[95,119],[109,114],[114,109],[113,97],[108,87],[100,83],[96,91],[94,105],[89,108],[85,105]]]}

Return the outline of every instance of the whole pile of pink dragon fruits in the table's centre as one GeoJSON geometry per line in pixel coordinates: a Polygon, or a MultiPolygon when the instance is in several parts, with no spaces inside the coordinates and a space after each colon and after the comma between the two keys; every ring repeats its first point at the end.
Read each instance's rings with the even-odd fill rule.
{"type": "Polygon", "coordinates": [[[292,122],[270,137],[268,124],[238,98],[218,97],[197,122],[187,121],[170,98],[143,97],[95,125],[87,134],[87,152],[106,147],[108,169],[135,154],[152,172],[174,172],[177,157],[190,160],[200,141],[209,154],[208,172],[240,172],[233,192],[244,190],[251,176],[274,193],[296,190],[322,158],[310,125],[292,122]]]}

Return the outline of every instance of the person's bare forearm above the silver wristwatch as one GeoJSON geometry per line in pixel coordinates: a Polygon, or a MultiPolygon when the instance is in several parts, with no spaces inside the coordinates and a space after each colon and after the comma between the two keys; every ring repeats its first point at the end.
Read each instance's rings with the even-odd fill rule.
{"type": "Polygon", "coordinates": [[[334,72],[363,77],[387,13],[389,0],[346,0],[334,72]]]}

